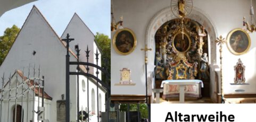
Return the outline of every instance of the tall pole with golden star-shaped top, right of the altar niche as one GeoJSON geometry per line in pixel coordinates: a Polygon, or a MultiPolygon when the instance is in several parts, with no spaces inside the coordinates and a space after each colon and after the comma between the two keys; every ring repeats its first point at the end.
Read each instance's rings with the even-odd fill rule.
{"type": "Polygon", "coordinates": [[[225,38],[222,38],[222,36],[220,36],[219,38],[217,38],[217,40],[215,41],[217,43],[217,45],[220,46],[220,85],[221,85],[221,103],[225,103],[224,101],[224,91],[223,91],[223,81],[222,81],[222,44],[226,42],[225,38]]]}

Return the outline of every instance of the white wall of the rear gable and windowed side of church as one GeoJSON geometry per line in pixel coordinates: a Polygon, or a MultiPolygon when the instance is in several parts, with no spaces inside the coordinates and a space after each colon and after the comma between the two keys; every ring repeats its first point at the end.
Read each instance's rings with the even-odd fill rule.
{"type": "MultiPolygon", "coordinates": [[[[85,50],[88,49],[90,50],[89,53],[89,63],[94,63],[96,64],[96,51],[97,45],[94,42],[94,34],[88,29],[86,24],[79,18],[77,14],[74,14],[71,21],[69,22],[67,28],[65,29],[64,33],[62,34],[61,38],[65,38],[67,36],[67,33],[70,34],[70,38],[74,38],[75,41],[70,42],[70,48],[73,50],[73,52],[76,53],[75,51],[75,45],[79,44],[79,49],[80,49],[80,62],[87,62],[86,58],[86,53],[85,50]]],[[[98,50],[98,53],[100,54],[100,51],[98,50]]],[[[98,56],[98,66],[101,66],[101,54],[98,56]]],[[[89,67],[89,73],[94,74],[96,76],[97,69],[89,67]]],[[[101,71],[98,70],[98,78],[101,79],[101,71]]],[[[99,86],[101,84],[99,83],[99,86]]],[[[97,86],[95,81],[89,80],[89,110],[92,111],[92,89],[95,91],[95,113],[92,117],[92,120],[96,119],[97,120],[97,86]],[[94,83],[93,83],[94,82],[94,83]]],[[[80,75],[79,76],[79,111],[83,107],[85,111],[87,111],[87,78],[85,76],[80,75]],[[85,92],[82,90],[82,80],[85,81],[85,92]]],[[[105,91],[102,91],[101,89],[98,89],[99,94],[102,96],[102,110],[99,111],[105,111],[105,91]]],[[[100,103],[100,102],[99,102],[100,103]]],[[[90,113],[91,114],[91,113],[90,113]]]]}

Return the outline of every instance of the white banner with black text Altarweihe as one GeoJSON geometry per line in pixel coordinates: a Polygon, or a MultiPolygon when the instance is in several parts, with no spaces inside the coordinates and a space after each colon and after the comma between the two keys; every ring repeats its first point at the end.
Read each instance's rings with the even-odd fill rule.
{"type": "Polygon", "coordinates": [[[152,122],[253,122],[256,104],[151,104],[152,122]]]}

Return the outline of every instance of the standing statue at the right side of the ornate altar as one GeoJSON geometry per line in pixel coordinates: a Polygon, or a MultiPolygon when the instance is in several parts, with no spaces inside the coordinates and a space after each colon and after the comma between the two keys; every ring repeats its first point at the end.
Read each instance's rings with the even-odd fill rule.
{"type": "Polygon", "coordinates": [[[201,57],[201,67],[200,67],[202,79],[209,79],[207,69],[208,69],[208,57],[207,57],[207,53],[204,53],[203,57],[201,57]]]}

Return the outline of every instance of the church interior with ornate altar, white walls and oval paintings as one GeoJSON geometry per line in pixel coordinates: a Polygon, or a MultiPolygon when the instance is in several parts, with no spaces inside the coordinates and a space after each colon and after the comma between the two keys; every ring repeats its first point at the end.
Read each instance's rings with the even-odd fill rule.
{"type": "Polygon", "coordinates": [[[112,101],[255,103],[255,6],[112,0],[112,101]]]}

